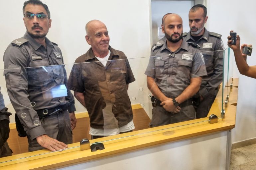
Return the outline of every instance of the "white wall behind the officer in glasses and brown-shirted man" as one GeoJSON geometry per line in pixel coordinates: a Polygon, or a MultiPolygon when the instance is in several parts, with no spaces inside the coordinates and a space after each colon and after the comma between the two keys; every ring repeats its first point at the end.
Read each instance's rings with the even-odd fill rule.
{"type": "MultiPolygon", "coordinates": [[[[23,23],[22,7],[25,0],[1,1],[0,5],[0,55],[3,56],[6,47],[16,38],[22,37],[26,31],[23,23]]],[[[43,0],[49,7],[52,19],[47,37],[61,48],[69,73],[72,63],[84,54],[89,45],[85,41],[85,24],[97,19],[105,23],[110,35],[110,45],[123,51],[128,59],[150,56],[150,1],[149,0],[95,0],[95,1],[63,1],[43,0]],[[70,65],[69,65],[70,64],[70,65]]],[[[2,58],[2,57],[1,57],[2,58]]],[[[149,90],[144,75],[148,58],[129,60],[136,81],[129,85],[129,96],[136,97],[135,103],[144,103],[149,112],[149,90]],[[143,91],[139,88],[143,87],[143,91]]],[[[3,77],[3,61],[0,60],[0,85],[4,95],[5,105],[15,113],[8,98],[3,77]]],[[[85,111],[76,101],[77,112],[85,111]]],[[[14,116],[11,117],[14,122],[14,116]]]]}

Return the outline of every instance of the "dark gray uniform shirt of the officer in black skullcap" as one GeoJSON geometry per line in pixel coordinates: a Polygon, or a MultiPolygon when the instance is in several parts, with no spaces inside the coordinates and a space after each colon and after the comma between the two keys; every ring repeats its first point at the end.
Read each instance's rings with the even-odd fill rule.
{"type": "Polygon", "coordinates": [[[207,76],[202,77],[202,84],[199,90],[199,94],[203,97],[209,91],[218,88],[222,82],[224,45],[220,37],[220,34],[209,32],[205,29],[202,37],[195,42],[190,32],[183,33],[183,38],[187,42],[195,42],[200,45],[198,49],[204,57],[207,76]]]}

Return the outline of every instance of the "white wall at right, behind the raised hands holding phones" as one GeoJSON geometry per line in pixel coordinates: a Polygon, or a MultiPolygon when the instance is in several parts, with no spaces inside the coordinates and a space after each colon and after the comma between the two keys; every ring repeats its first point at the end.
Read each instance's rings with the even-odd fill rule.
{"type": "MultiPolygon", "coordinates": [[[[241,44],[256,44],[256,2],[254,0],[208,0],[208,22],[210,31],[222,34],[222,40],[227,47],[227,36],[234,30],[241,37],[241,44]]],[[[253,45],[253,46],[254,46],[253,45]]],[[[235,65],[233,51],[230,52],[231,73],[239,77],[238,104],[236,127],[232,132],[232,143],[256,137],[256,80],[239,74],[235,65]]],[[[255,51],[247,57],[249,65],[256,65],[255,51]]]]}

